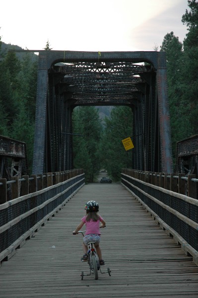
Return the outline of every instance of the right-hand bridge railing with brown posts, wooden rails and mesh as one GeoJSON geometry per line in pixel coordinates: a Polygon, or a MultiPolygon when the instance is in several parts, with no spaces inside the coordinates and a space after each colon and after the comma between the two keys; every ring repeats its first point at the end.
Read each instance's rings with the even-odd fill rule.
{"type": "Polygon", "coordinates": [[[151,184],[147,177],[144,172],[123,169],[121,179],[132,196],[198,265],[198,200],[151,184]]]}

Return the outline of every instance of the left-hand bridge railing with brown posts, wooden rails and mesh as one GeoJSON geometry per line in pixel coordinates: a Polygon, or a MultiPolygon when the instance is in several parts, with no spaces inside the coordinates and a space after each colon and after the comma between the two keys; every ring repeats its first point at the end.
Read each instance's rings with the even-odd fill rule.
{"type": "MultiPolygon", "coordinates": [[[[35,191],[32,191],[31,186],[31,193],[0,205],[0,262],[8,260],[17,248],[61,210],[85,183],[81,169],[66,171],[63,175],[57,174],[54,181],[58,183],[54,185],[52,175],[43,175],[40,179],[46,179],[49,183],[46,182],[47,186],[41,183],[46,188],[39,190],[38,185],[35,185],[37,178],[36,176],[34,180],[30,180],[31,183],[34,181],[35,191]]],[[[29,187],[26,188],[26,191],[29,191],[29,187]]]]}

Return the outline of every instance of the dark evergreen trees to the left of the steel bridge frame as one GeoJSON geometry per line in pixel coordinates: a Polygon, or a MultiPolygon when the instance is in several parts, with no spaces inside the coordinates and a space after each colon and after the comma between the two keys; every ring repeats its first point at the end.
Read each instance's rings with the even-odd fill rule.
{"type": "Polygon", "coordinates": [[[37,82],[37,61],[7,52],[0,61],[0,134],[26,143],[31,174],[37,82]]]}

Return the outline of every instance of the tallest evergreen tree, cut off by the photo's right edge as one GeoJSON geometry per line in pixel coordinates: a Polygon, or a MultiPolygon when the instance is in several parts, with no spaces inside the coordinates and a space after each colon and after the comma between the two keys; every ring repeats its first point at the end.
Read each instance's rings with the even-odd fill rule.
{"type": "Polygon", "coordinates": [[[187,137],[198,133],[198,1],[188,0],[190,11],[182,16],[188,33],[184,40],[184,58],[182,63],[182,101],[186,104],[186,124],[189,126],[187,137]]]}

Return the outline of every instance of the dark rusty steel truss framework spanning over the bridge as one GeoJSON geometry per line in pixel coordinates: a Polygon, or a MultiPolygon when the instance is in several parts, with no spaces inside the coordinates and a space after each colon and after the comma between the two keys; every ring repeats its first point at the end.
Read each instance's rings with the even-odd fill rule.
{"type": "Polygon", "coordinates": [[[163,52],[39,51],[33,173],[72,169],[71,115],[84,105],[133,111],[132,168],[172,172],[163,52]]]}

